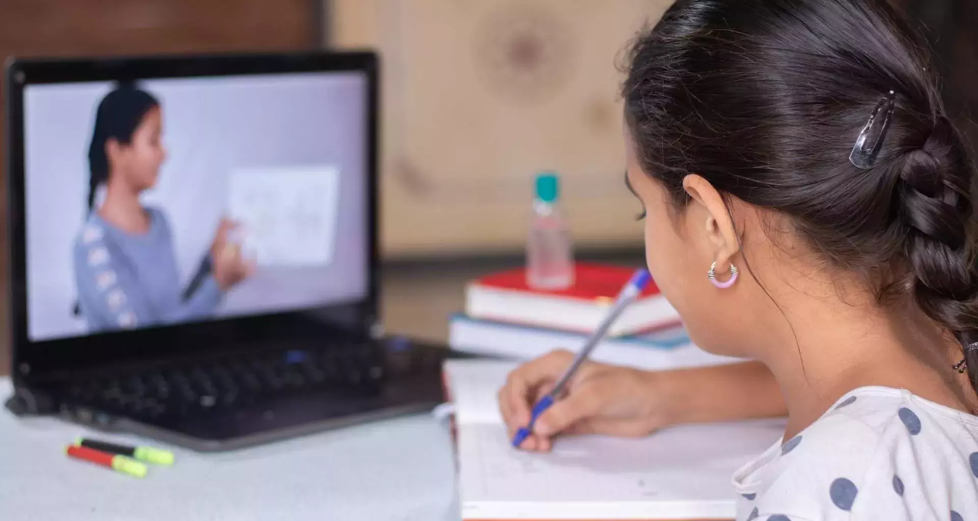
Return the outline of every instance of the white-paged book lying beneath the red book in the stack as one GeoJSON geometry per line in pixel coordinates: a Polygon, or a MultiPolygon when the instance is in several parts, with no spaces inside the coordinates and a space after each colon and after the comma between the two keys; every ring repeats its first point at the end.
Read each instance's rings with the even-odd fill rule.
{"type": "MultiPolygon", "coordinates": [[[[456,315],[449,324],[448,343],[456,351],[525,361],[555,349],[576,352],[588,336],[576,331],[504,324],[456,315]]],[[[689,342],[689,336],[681,327],[638,336],[607,337],[595,348],[591,358],[605,364],[641,369],[679,369],[742,362],[696,347],[689,342]]]]}

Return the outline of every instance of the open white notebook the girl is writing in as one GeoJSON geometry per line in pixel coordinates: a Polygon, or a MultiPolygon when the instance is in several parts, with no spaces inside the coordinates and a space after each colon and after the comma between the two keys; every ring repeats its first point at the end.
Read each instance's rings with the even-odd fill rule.
{"type": "Polygon", "coordinates": [[[445,365],[467,521],[733,519],[733,471],[784,430],[783,420],[689,425],[643,439],[566,437],[551,454],[524,453],[511,448],[496,405],[514,367],[445,365]]]}

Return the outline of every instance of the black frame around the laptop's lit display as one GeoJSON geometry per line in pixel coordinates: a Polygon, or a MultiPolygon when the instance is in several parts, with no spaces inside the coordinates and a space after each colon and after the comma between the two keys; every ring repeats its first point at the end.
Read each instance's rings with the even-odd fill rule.
{"type": "Polygon", "coordinates": [[[63,378],[84,369],[261,345],[288,338],[368,335],[379,325],[378,56],[370,51],[156,56],[111,59],[13,60],[5,76],[6,168],[10,289],[9,325],[15,384],[63,378]],[[23,92],[27,85],[150,78],[213,77],[296,72],[361,72],[367,78],[364,210],[369,249],[365,299],[271,315],[156,326],[81,337],[32,341],[27,336],[24,216],[23,92]]]}

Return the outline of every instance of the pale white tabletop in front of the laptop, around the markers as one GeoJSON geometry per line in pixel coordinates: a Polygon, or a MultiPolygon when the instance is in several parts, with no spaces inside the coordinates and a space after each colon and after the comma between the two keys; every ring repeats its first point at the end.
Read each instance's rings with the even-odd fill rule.
{"type": "MultiPolygon", "coordinates": [[[[0,398],[10,396],[0,378],[0,398]]],[[[232,453],[172,449],[143,479],[65,456],[81,435],[54,418],[0,409],[0,520],[251,519],[458,521],[448,427],[418,414],[232,453]]]]}

